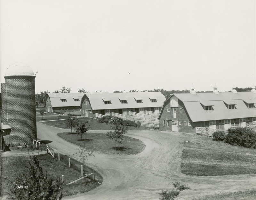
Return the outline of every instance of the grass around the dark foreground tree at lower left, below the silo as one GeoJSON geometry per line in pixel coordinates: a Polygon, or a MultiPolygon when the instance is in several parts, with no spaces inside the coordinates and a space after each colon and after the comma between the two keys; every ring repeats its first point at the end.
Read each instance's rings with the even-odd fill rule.
{"type": "MultiPolygon", "coordinates": [[[[56,158],[54,159],[52,156],[44,154],[37,156],[37,158],[40,161],[40,166],[43,167],[44,173],[47,171],[48,175],[54,175],[56,177],[62,177],[62,175],[64,175],[64,184],[81,177],[79,170],[68,168],[67,164],[58,161],[56,158]]],[[[1,198],[8,194],[7,192],[9,191],[9,188],[12,187],[12,181],[15,180],[15,177],[19,176],[19,172],[29,171],[28,161],[28,156],[1,157],[1,198]]],[[[84,173],[90,173],[93,171],[94,170],[84,165],[84,173]]],[[[95,177],[102,181],[102,177],[98,173],[95,174],[95,177]]],[[[84,193],[96,188],[97,186],[98,183],[94,181],[82,179],[80,182],[64,186],[63,196],[84,193]]]]}

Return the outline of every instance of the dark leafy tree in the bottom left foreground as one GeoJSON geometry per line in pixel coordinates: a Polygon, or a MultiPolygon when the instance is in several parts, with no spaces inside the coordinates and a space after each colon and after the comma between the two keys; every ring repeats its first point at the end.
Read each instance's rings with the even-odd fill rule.
{"type": "Polygon", "coordinates": [[[44,174],[37,157],[31,159],[33,163],[29,162],[29,172],[22,172],[13,182],[9,192],[11,199],[61,200],[63,183],[60,178],[44,174]]]}

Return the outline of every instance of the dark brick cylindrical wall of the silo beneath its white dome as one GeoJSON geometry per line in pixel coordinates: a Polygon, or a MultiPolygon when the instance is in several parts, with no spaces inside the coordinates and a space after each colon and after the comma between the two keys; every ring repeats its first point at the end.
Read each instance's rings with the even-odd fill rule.
{"type": "MultiPolygon", "coordinates": [[[[10,142],[22,145],[37,139],[35,76],[5,76],[4,117],[12,130],[10,142]]],[[[2,86],[3,88],[3,86],[2,86]]]]}

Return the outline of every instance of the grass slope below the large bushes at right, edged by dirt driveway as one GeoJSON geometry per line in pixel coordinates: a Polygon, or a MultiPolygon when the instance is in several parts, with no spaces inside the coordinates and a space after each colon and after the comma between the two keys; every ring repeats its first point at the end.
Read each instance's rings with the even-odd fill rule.
{"type": "Polygon", "coordinates": [[[196,176],[256,174],[256,149],[196,136],[184,143],[181,172],[196,176]]]}

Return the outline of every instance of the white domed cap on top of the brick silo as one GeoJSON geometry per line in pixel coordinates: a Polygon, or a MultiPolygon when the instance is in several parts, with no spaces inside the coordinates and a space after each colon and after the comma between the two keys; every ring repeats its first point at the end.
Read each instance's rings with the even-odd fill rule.
{"type": "Polygon", "coordinates": [[[35,74],[27,64],[13,63],[7,68],[5,76],[35,76],[35,74]]]}

